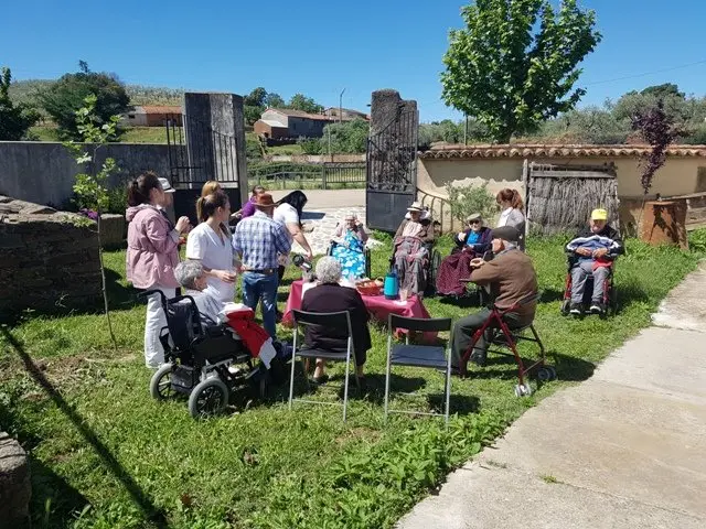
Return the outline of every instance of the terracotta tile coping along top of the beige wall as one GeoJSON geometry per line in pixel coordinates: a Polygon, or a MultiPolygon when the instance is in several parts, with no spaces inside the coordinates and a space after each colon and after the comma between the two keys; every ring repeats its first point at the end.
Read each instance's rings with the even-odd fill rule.
{"type": "MultiPolygon", "coordinates": [[[[419,153],[422,160],[451,160],[458,158],[576,158],[576,156],[640,156],[650,152],[650,145],[436,145],[419,153]]],[[[706,145],[672,145],[667,156],[704,156],[706,145]]]]}

